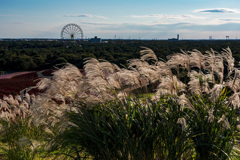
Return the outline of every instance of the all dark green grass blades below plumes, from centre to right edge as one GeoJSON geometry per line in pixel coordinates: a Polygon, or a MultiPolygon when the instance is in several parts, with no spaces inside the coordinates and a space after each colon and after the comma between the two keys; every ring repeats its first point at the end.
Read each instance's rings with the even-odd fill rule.
{"type": "Polygon", "coordinates": [[[239,158],[236,109],[227,99],[224,92],[215,102],[192,95],[192,108],[182,107],[174,96],[75,104],[66,113],[69,127],[52,149],[79,159],[83,153],[104,160],[239,158]]]}

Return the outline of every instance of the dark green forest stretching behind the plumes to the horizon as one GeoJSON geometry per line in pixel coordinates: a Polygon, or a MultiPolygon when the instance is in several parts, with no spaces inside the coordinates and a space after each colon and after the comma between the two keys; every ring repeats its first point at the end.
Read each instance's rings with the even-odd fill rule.
{"type": "Polygon", "coordinates": [[[211,48],[220,52],[222,48],[230,47],[235,60],[240,61],[238,40],[110,40],[109,43],[82,44],[61,41],[0,41],[0,71],[42,70],[66,62],[82,68],[84,59],[88,57],[126,66],[128,59],[139,58],[141,46],[151,48],[163,59],[181,49],[197,49],[204,53],[211,48]]]}

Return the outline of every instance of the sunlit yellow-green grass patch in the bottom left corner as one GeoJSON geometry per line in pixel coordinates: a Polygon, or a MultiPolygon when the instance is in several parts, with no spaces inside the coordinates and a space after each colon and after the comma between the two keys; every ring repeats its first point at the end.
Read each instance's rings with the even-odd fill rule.
{"type": "Polygon", "coordinates": [[[43,126],[34,126],[29,119],[1,120],[1,158],[8,160],[33,160],[43,157],[44,141],[51,135],[43,126]]]}

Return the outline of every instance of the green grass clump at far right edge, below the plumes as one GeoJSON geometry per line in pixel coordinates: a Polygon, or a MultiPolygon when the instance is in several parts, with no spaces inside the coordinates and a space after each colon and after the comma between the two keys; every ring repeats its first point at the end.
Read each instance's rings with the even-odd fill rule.
{"type": "Polygon", "coordinates": [[[192,137],[197,158],[200,160],[230,159],[237,157],[239,137],[237,109],[227,103],[224,90],[216,101],[193,95],[189,98],[192,109],[185,109],[186,123],[192,137]]]}

